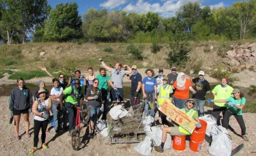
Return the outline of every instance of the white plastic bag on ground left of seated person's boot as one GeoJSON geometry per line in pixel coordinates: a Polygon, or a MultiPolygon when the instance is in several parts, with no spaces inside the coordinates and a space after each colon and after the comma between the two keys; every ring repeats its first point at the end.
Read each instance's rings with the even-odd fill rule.
{"type": "Polygon", "coordinates": [[[137,146],[134,147],[141,155],[151,155],[153,141],[151,137],[146,136],[144,141],[139,142],[137,146]]]}

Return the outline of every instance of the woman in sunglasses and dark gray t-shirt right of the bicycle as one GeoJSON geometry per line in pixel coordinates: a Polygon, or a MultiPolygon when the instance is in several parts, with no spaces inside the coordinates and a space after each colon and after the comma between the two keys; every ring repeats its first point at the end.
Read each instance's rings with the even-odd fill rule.
{"type": "Polygon", "coordinates": [[[97,78],[93,79],[92,86],[89,86],[86,90],[85,99],[88,100],[88,106],[90,111],[90,124],[89,124],[89,137],[93,137],[94,127],[99,117],[100,111],[104,111],[104,105],[101,101],[101,90],[98,88],[97,78]]]}

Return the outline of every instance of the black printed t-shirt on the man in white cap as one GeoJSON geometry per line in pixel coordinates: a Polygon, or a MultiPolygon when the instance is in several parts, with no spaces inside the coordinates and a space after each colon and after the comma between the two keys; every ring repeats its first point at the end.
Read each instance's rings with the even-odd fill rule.
{"type": "Polygon", "coordinates": [[[196,94],[193,94],[192,98],[205,100],[205,94],[210,90],[209,82],[206,79],[203,82],[199,82],[199,78],[194,78],[192,81],[196,84],[196,94]]]}

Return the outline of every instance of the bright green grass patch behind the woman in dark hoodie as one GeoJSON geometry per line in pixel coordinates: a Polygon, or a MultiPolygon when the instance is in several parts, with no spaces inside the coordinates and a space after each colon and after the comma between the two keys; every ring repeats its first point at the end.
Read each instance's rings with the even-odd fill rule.
{"type": "Polygon", "coordinates": [[[32,78],[39,78],[39,77],[47,77],[47,74],[42,70],[28,70],[28,71],[18,71],[13,75],[10,75],[8,79],[32,79],[32,78]]]}

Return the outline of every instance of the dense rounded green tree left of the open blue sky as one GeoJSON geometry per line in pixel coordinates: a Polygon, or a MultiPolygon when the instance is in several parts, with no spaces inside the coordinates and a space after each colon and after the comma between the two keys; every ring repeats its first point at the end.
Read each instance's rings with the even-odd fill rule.
{"type": "Polygon", "coordinates": [[[81,16],[77,3],[60,3],[49,12],[44,27],[44,38],[48,41],[71,41],[82,36],[81,16]]]}

